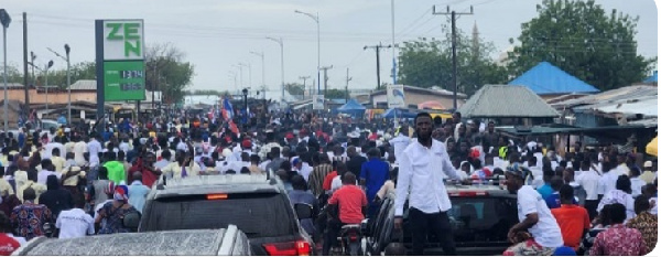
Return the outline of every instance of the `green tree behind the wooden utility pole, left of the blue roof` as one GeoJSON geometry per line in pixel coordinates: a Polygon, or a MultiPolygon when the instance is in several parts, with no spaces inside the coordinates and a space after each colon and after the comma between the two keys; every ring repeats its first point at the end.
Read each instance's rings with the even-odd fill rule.
{"type": "MultiPolygon", "coordinates": [[[[399,77],[405,85],[438,86],[454,90],[452,85],[452,35],[443,29],[445,38],[404,42],[399,55],[399,77]]],[[[473,95],[485,84],[507,81],[507,69],[496,65],[490,57],[495,47],[483,39],[469,39],[457,31],[457,87],[473,95]]]]}

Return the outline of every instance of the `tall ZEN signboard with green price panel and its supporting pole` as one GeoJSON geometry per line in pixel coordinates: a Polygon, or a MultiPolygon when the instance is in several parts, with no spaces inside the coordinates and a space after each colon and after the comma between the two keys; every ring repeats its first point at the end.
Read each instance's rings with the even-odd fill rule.
{"type": "Polygon", "coordinates": [[[96,20],[96,65],[97,131],[102,132],[106,100],[144,100],[143,20],[96,20]]]}

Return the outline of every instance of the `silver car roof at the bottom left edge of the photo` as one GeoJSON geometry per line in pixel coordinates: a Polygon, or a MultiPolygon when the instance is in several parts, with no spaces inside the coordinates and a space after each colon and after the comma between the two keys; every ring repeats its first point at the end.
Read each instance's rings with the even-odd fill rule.
{"type": "Polygon", "coordinates": [[[18,255],[231,255],[235,238],[245,238],[235,225],[221,229],[120,233],[79,238],[39,237],[19,248],[18,255]]]}

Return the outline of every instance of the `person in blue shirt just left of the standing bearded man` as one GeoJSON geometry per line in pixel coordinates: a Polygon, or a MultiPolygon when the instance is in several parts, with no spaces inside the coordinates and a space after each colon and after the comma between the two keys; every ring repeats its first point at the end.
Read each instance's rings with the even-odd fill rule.
{"type": "Polygon", "coordinates": [[[366,186],[367,202],[370,203],[368,215],[372,216],[379,208],[378,204],[373,204],[375,196],[390,179],[390,165],[381,160],[381,151],[378,148],[370,149],[367,156],[369,161],[362,163],[360,169],[360,185],[366,186]]]}

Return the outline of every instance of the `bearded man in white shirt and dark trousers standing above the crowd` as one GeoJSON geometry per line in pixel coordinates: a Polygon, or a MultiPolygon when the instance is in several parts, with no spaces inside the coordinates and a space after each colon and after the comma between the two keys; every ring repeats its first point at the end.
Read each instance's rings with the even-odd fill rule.
{"type": "Polygon", "coordinates": [[[415,116],[418,140],[402,152],[399,162],[394,228],[402,229],[404,202],[409,199],[409,222],[413,236],[413,255],[423,255],[427,234],[435,234],[443,255],[455,255],[455,244],[447,211],[452,207],[443,175],[459,180],[445,144],[432,139],[432,116],[415,116]],[[409,193],[410,192],[410,193],[409,193]]]}

